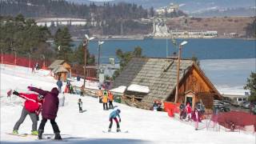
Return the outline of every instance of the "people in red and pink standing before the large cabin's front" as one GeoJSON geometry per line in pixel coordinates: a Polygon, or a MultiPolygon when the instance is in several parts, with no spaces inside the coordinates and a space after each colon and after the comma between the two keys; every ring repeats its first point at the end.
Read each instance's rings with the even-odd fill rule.
{"type": "Polygon", "coordinates": [[[185,119],[186,121],[190,121],[191,119],[194,120],[194,129],[198,130],[198,122],[201,122],[201,114],[199,113],[199,110],[197,107],[194,108],[194,111],[192,111],[192,108],[190,106],[190,102],[186,103],[186,106],[182,103],[180,106],[180,119],[185,119]]]}

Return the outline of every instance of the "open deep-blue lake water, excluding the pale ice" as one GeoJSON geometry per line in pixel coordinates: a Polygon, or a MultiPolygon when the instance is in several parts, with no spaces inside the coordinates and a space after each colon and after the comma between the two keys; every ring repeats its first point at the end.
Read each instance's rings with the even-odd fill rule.
{"type": "MultiPolygon", "coordinates": [[[[256,58],[256,41],[244,39],[214,38],[214,39],[178,39],[180,43],[188,43],[182,47],[182,58],[191,58],[193,55],[202,59],[237,59],[256,58]]],[[[74,41],[78,46],[81,41],[74,41]]],[[[116,58],[115,51],[133,51],[134,47],[142,47],[142,55],[150,58],[166,58],[174,52],[178,53],[170,39],[145,39],[145,40],[106,40],[101,49],[101,62],[109,62],[109,58],[116,58]],[[167,49],[166,49],[167,48],[167,49]]],[[[98,57],[98,41],[91,41],[90,54],[98,57]]],[[[98,58],[97,58],[98,59],[98,58]]]]}

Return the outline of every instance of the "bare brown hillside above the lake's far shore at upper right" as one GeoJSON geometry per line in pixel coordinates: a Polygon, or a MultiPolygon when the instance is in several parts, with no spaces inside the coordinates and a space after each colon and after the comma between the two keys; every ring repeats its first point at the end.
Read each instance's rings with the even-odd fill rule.
{"type": "Polygon", "coordinates": [[[237,33],[238,37],[246,34],[245,27],[252,23],[253,17],[224,17],[224,18],[171,18],[166,22],[170,30],[218,30],[218,37],[237,33]]]}

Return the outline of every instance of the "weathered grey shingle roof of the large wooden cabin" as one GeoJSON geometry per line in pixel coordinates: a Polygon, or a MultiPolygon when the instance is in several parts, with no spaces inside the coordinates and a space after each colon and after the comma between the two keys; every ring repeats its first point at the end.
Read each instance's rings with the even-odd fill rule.
{"type": "MultiPolygon", "coordinates": [[[[177,58],[132,58],[115,79],[114,88],[130,86],[130,84],[149,86],[150,93],[142,98],[142,102],[152,104],[155,99],[165,101],[175,90],[177,62],[177,58]]],[[[181,60],[180,80],[192,66],[194,66],[192,60],[181,60]]],[[[203,76],[205,75],[203,74],[203,76]]],[[[208,78],[206,79],[208,80],[208,78]]],[[[213,85],[210,83],[210,86],[213,85]]]]}

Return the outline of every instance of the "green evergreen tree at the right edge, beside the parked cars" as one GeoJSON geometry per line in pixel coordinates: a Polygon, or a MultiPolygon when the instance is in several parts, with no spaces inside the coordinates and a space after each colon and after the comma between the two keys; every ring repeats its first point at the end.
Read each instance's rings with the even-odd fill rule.
{"type": "Polygon", "coordinates": [[[250,90],[249,101],[256,101],[256,73],[251,72],[250,78],[247,78],[246,86],[244,89],[250,90]]]}

